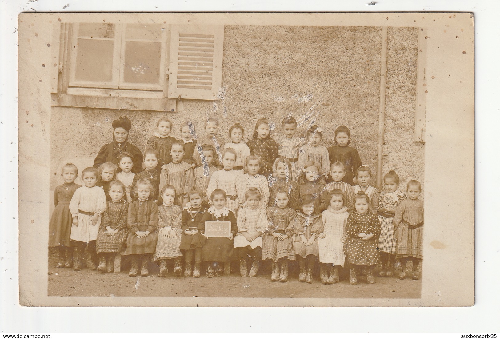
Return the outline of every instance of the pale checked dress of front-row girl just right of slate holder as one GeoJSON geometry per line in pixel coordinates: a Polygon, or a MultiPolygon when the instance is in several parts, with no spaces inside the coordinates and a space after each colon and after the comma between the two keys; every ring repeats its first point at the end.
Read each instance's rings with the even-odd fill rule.
{"type": "Polygon", "coordinates": [[[238,212],[236,219],[238,232],[234,236],[234,248],[246,247],[251,248],[262,247],[262,234],[267,230],[267,214],[265,208],[257,206],[251,209],[250,207],[241,208],[238,212]],[[248,242],[241,232],[247,231],[249,233],[260,232],[261,235],[257,236],[252,242],[248,242]]]}

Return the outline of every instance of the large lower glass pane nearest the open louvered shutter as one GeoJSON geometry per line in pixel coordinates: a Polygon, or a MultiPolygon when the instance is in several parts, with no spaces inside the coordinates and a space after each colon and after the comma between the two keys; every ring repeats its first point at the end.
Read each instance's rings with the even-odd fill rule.
{"type": "Polygon", "coordinates": [[[159,83],[161,42],[127,41],[123,80],[128,83],[159,83]]]}

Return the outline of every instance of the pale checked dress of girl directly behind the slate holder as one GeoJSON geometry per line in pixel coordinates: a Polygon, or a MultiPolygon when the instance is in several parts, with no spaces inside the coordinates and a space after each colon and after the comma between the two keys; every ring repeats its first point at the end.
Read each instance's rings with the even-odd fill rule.
{"type": "Polygon", "coordinates": [[[245,200],[246,181],[243,174],[234,169],[221,169],[214,172],[206,188],[206,196],[210,204],[210,195],[216,188],[222,189],[227,194],[225,206],[236,214],[239,204],[245,200]]]}

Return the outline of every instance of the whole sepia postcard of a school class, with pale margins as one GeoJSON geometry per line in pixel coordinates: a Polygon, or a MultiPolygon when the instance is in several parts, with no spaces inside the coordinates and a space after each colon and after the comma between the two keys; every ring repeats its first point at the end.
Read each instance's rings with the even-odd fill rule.
{"type": "Polygon", "coordinates": [[[19,303],[471,306],[468,12],[18,16],[19,303]]]}

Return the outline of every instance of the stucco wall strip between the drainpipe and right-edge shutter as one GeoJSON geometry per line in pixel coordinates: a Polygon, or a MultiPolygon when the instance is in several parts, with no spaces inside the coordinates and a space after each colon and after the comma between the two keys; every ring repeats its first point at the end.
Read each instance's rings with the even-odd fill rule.
{"type": "Polygon", "coordinates": [[[423,185],[425,144],[414,135],[417,46],[408,43],[417,38],[416,27],[387,29],[383,173],[394,169],[401,190],[412,179],[423,185]]]}

